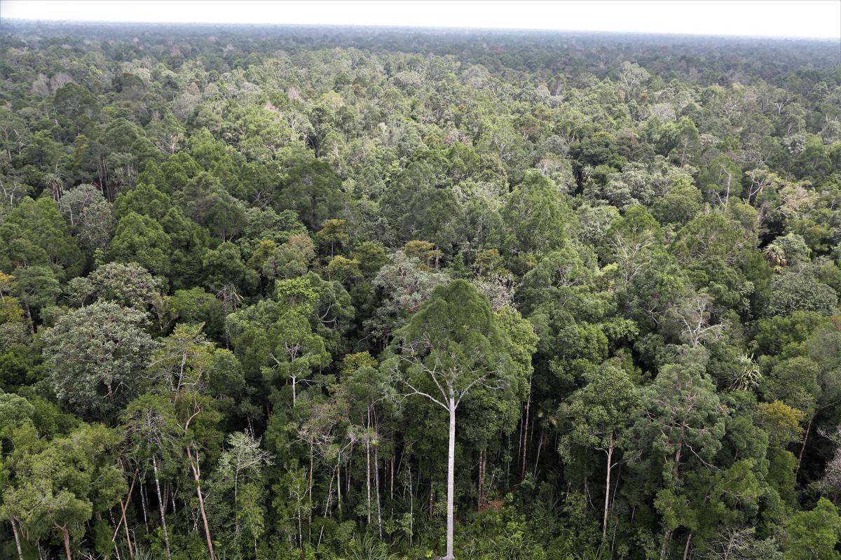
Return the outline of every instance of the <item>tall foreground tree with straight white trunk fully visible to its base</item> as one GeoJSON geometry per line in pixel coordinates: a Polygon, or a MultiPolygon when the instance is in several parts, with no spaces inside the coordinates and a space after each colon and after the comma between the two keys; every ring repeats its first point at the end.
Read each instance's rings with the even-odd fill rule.
{"type": "Polygon", "coordinates": [[[515,366],[487,298],[465,280],[432,292],[430,301],[395,333],[389,370],[401,394],[420,395],[449,415],[447,555],[453,556],[456,411],[474,388],[507,390],[515,366]]]}

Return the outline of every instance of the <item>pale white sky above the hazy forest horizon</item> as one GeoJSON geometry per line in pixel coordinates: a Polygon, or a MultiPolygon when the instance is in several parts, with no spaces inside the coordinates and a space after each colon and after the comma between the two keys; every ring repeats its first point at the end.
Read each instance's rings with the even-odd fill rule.
{"type": "Polygon", "coordinates": [[[397,25],[838,39],[841,0],[0,0],[3,19],[397,25]]]}

